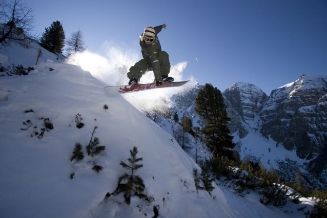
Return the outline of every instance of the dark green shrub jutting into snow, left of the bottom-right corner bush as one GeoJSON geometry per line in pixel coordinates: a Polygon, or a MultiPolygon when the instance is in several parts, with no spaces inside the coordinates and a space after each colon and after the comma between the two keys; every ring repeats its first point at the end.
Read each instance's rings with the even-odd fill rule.
{"type": "Polygon", "coordinates": [[[263,191],[263,197],[260,202],[264,205],[274,205],[276,207],[283,207],[287,203],[287,192],[290,188],[284,185],[272,184],[263,191]]]}

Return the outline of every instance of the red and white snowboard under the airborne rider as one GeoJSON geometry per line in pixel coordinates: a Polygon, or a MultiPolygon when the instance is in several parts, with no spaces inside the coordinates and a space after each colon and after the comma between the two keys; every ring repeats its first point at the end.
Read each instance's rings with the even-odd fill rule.
{"type": "Polygon", "coordinates": [[[163,82],[162,85],[157,86],[156,83],[147,83],[147,84],[137,84],[137,85],[120,85],[120,86],[107,86],[104,88],[105,92],[110,95],[124,94],[124,93],[132,93],[132,92],[141,92],[151,89],[161,89],[161,88],[171,88],[181,86],[187,81],[180,82],[163,82]]]}

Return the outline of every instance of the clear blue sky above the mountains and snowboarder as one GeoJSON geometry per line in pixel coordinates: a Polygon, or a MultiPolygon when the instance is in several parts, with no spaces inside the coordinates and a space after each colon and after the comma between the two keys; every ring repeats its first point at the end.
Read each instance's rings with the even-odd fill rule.
{"type": "MultiPolygon", "coordinates": [[[[24,0],[23,0],[24,2],[24,0]]],[[[166,23],[158,37],[183,75],[224,91],[235,82],[267,95],[302,74],[327,74],[327,1],[97,1],[29,0],[42,34],[59,20],[66,38],[80,29],[88,50],[105,41],[139,50],[147,26],[166,23]]]]}

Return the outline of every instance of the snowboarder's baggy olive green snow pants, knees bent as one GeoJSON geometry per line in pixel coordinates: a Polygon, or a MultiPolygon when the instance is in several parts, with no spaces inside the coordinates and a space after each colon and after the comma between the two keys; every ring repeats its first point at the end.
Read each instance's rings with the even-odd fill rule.
{"type": "MultiPolygon", "coordinates": [[[[164,51],[159,52],[157,54],[157,57],[159,58],[160,70],[161,70],[160,71],[161,75],[159,75],[159,77],[168,76],[170,72],[170,61],[167,52],[164,51]]],[[[127,73],[127,77],[129,79],[139,80],[142,77],[142,75],[145,74],[147,71],[153,71],[150,58],[141,59],[138,62],[136,62],[134,66],[130,68],[130,72],[127,73]]],[[[154,72],[154,73],[159,73],[159,72],[154,72]]]]}

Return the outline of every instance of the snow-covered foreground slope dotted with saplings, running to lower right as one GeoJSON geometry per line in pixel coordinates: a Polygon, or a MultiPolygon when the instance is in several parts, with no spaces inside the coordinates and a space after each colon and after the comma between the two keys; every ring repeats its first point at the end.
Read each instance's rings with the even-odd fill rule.
{"type": "MultiPolygon", "coordinates": [[[[36,45],[34,51],[6,52],[19,51],[17,56],[24,57],[19,63],[28,67],[33,66],[30,60],[37,49],[36,45]]],[[[14,62],[15,55],[0,53],[2,60],[14,62]]],[[[304,217],[265,207],[257,195],[243,199],[224,192],[216,184],[212,197],[206,191],[197,193],[192,170],[199,167],[172,135],[125,99],[132,95],[107,96],[105,84],[90,72],[56,57],[44,56],[34,68],[27,76],[0,77],[0,90],[8,96],[0,101],[0,217],[153,216],[153,206],[137,197],[132,197],[131,205],[124,203],[122,194],[103,201],[126,172],[119,163],[127,162],[133,146],[144,165],[137,175],[144,179],[145,193],[154,195],[159,217],[304,217]],[[75,127],[77,114],[85,124],[80,129],[75,127]],[[38,139],[34,133],[43,127],[42,118],[49,118],[54,128],[38,139]],[[22,130],[27,120],[32,125],[22,130]],[[82,161],[70,162],[74,144],[80,142],[85,148],[94,126],[105,152],[91,158],[84,150],[82,161]],[[103,171],[93,171],[94,163],[103,171]]],[[[149,97],[144,93],[142,98],[149,97]]]]}

